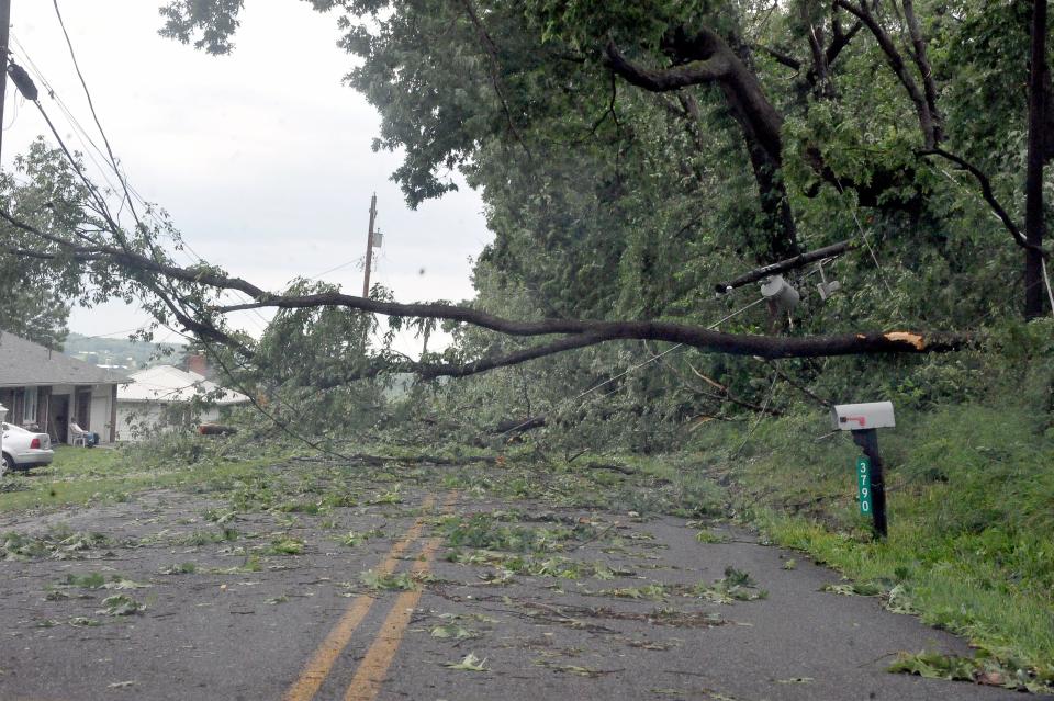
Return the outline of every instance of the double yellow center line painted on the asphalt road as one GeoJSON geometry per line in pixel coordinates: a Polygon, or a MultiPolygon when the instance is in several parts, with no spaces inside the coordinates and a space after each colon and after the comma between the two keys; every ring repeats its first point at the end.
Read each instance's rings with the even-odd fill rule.
{"type": "MultiPolygon", "coordinates": [[[[451,510],[455,499],[457,499],[456,493],[447,497],[442,506],[445,512],[451,510]]],[[[435,497],[426,497],[422,504],[422,509],[429,511],[435,504],[435,497]]],[[[392,545],[384,561],[378,565],[377,572],[381,575],[390,575],[394,572],[400,557],[402,557],[403,553],[406,552],[414,541],[421,538],[424,528],[425,517],[422,516],[414,521],[414,524],[410,527],[403,538],[392,545]]],[[[411,570],[414,574],[427,572],[438,547],[438,539],[433,538],[426,541],[422,549],[421,557],[414,562],[411,570]]],[[[348,691],[344,697],[345,701],[372,701],[378,692],[380,692],[381,682],[384,680],[384,676],[388,674],[388,669],[395,658],[395,653],[402,642],[403,634],[410,625],[414,608],[416,608],[419,600],[419,589],[404,591],[395,600],[395,604],[384,620],[377,640],[370,645],[366,657],[363,657],[359,664],[355,678],[351,680],[351,686],[348,687],[348,691]]],[[[370,607],[373,606],[374,601],[377,601],[377,599],[370,595],[360,595],[348,604],[348,609],[340,617],[340,620],[337,621],[333,630],[329,631],[329,634],[322,644],[318,645],[318,649],[312,655],[293,686],[291,686],[282,697],[282,701],[310,701],[314,698],[329,675],[329,671],[333,669],[333,666],[336,664],[340,653],[344,652],[344,648],[347,647],[351,641],[351,635],[356,629],[358,629],[362,619],[366,618],[366,614],[369,613],[370,607]]]]}

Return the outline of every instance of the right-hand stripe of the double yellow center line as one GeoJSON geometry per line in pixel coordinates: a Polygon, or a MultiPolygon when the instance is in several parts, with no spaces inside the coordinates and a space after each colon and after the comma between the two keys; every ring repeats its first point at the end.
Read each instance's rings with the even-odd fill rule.
{"type": "MultiPolygon", "coordinates": [[[[442,510],[449,512],[457,499],[457,493],[451,494],[442,505],[442,510]]],[[[421,550],[421,556],[411,567],[413,573],[428,572],[431,558],[439,549],[439,539],[433,538],[425,542],[421,550]]],[[[377,640],[366,651],[366,657],[359,663],[359,668],[351,679],[351,686],[344,694],[344,701],[373,701],[381,691],[381,685],[388,675],[392,660],[395,659],[395,653],[399,652],[399,645],[403,641],[403,634],[410,626],[410,620],[414,615],[414,609],[421,601],[421,589],[404,591],[395,599],[395,606],[384,619],[381,631],[377,640]]]]}

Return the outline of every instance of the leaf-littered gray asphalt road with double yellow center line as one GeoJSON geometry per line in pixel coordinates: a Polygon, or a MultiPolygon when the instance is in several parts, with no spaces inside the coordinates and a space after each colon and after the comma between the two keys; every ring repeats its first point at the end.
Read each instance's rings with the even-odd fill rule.
{"type": "Polygon", "coordinates": [[[46,545],[0,563],[0,699],[1020,698],[887,672],[900,651],[969,651],[877,598],[821,591],[837,574],[738,531],[700,543],[684,519],[440,489],[217,523],[224,507],[152,493],[0,519],[46,545]],[[578,578],[448,562],[440,515],[512,508],[511,528],[579,527],[532,555],[578,578]],[[348,545],[349,531],[372,533],[348,545]],[[715,600],[729,567],[749,574],[744,598],[766,596],[715,600]],[[385,573],[411,588],[371,588],[385,573]],[[113,615],[115,596],[143,609],[113,615]]]}

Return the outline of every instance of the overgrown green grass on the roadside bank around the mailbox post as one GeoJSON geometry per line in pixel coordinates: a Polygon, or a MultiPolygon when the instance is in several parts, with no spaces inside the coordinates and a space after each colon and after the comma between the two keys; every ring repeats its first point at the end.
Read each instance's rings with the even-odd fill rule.
{"type": "Polygon", "coordinates": [[[774,542],[910,601],[923,621],[1054,682],[1054,440],[1033,414],[960,405],[900,412],[883,431],[889,538],[859,513],[857,449],[817,442],[827,420],[796,412],[698,446],[735,485],[739,515],[774,542]],[[739,455],[733,453],[742,445],[739,455]]]}

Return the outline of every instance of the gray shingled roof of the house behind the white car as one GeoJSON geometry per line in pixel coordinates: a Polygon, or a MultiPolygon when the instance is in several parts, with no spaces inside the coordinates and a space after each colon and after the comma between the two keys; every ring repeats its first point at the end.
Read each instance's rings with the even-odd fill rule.
{"type": "Polygon", "coordinates": [[[0,387],[93,385],[122,381],[126,381],[123,373],[97,368],[0,331],[0,387]]]}

